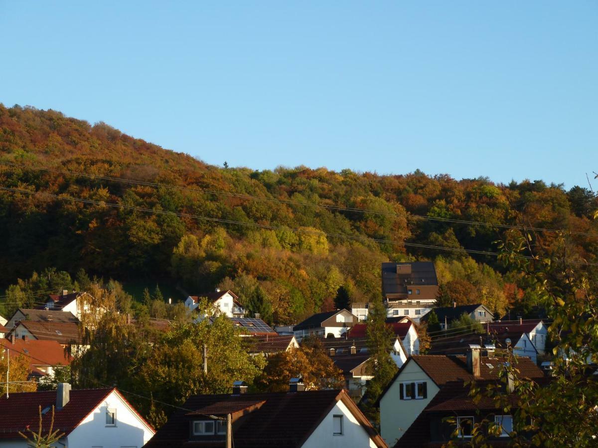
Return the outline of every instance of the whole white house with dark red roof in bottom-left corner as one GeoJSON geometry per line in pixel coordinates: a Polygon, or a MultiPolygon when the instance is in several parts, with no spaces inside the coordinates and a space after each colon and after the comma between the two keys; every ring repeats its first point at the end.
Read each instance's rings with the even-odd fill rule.
{"type": "Polygon", "coordinates": [[[27,441],[19,431],[29,434],[50,426],[51,407],[54,429],[65,435],[56,446],[141,447],[155,431],[115,388],[71,390],[60,383],[57,391],[12,392],[0,397],[0,446],[23,447],[27,441]],[[17,411],[18,410],[18,411],[17,411]]]}

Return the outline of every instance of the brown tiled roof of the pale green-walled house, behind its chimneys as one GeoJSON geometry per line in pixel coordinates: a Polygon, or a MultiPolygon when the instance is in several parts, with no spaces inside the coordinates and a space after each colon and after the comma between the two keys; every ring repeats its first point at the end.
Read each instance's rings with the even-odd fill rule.
{"type": "MultiPolygon", "coordinates": [[[[518,357],[516,368],[520,372],[521,378],[542,378],[544,373],[536,366],[536,364],[527,357],[518,357]]],[[[480,377],[474,376],[468,372],[467,361],[465,356],[448,356],[448,355],[411,355],[407,361],[396,372],[395,377],[386,385],[378,401],[388,392],[388,389],[393,385],[401,372],[410,362],[416,363],[429,378],[434,381],[437,386],[444,386],[451,381],[471,381],[472,379],[497,379],[501,367],[505,363],[504,357],[480,357],[480,377]]]]}

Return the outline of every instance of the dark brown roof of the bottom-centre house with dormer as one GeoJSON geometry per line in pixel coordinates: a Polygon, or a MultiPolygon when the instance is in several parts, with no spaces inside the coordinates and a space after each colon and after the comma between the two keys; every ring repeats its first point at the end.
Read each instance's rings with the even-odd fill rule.
{"type": "Polygon", "coordinates": [[[170,416],[166,424],[145,445],[151,447],[182,447],[189,434],[187,414],[193,411],[237,409],[254,403],[254,410],[240,417],[234,427],[234,446],[236,448],[295,448],[300,447],[315,431],[325,416],[338,401],[349,408],[365,431],[376,443],[385,447],[382,438],[376,434],[370,422],[353,403],[347,392],[337,390],[276,392],[268,394],[240,395],[194,395],[190,397],[182,410],[170,416]],[[258,403],[264,401],[261,406],[258,403]],[[236,406],[235,403],[240,403],[236,406]],[[236,406],[236,407],[235,407],[236,406]]]}

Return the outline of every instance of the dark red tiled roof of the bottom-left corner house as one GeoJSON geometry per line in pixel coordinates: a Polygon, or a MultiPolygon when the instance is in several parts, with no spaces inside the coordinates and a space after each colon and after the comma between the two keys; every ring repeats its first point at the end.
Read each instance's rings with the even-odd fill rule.
{"type": "MultiPolygon", "coordinates": [[[[97,405],[115,389],[80,389],[70,392],[70,400],[61,410],[54,413],[54,429],[69,434],[86,418],[97,405]]],[[[124,399],[124,398],[123,398],[124,399]]],[[[25,428],[39,428],[39,406],[56,406],[56,391],[13,392],[9,398],[0,397],[0,439],[19,438],[19,431],[25,428]],[[18,409],[19,412],[14,412],[18,409]]],[[[51,412],[43,418],[42,428],[50,427],[51,412]]]]}

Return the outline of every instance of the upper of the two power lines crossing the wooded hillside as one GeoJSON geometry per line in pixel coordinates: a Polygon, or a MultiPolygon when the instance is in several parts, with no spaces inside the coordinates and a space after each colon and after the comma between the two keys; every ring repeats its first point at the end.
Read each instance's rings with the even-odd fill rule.
{"type": "Polygon", "coordinates": [[[520,229],[520,230],[524,230],[524,231],[537,231],[537,232],[550,232],[550,233],[565,232],[565,233],[569,233],[572,235],[584,235],[584,236],[588,236],[588,237],[598,237],[598,234],[593,234],[590,232],[565,231],[563,229],[548,229],[548,228],[542,228],[542,227],[520,226],[520,225],[511,225],[511,224],[502,224],[502,223],[487,223],[487,222],[482,222],[482,221],[424,216],[424,215],[411,214],[411,213],[390,213],[387,211],[371,210],[371,209],[367,209],[367,208],[341,207],[340,205],[310,204],[309,202],[299,202],[299,201],[277,199],[277,198],[266,198],[266,197],[260,197],[260,196],[255,196],[255,195],[242,194],[242,193],[212,190],[212,189],[207,189],[207,188],[199,188],[199,187],[190,188],[190,187],[178,186],[178,185],[167,185],[167,184],[158,183],[158,182],[146,182],[143,180],[123,179],[122,177],[99,176],[97,174],[88,174],[88,173],[80,173],[77,171],[59,170],[57,168],[35,167],[32,165],[18,164],[18,163],[7,162],[7,161],[0,161],[0,164],[11,166],[11,167],[27,168],[29,170],[47,171],[49,173],[88,177],[89,179],[111,180],[113,182],[123,182],[123,183],[129,183],[131,185],[143,185],[143,186],[152,186],[155,188],[167,188],[167,189],[176,189],[176,190],[181,190],[181,191],[208,193],[208,194],[212,194],[212,195],[241,198],[241,199],[252,200],[252,201],[278,202],[280,204],[298,205],[301,207],[318,207],[318,208],[325,208],[327,210],[335,210],[335,211],[352,211],[355,213],[371,213],[371,214],[377,214],[380,216],[416,218],[416,219],[431,220],[431,221],[437,221],[437,222],[457,223],[457,224],[465,224],[465,225],[472,225],[472,226],[498,227],[498,228],[504,228],[504,229],[520,229]]]}

